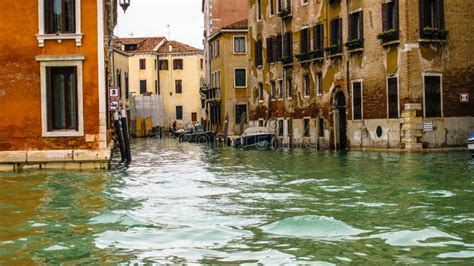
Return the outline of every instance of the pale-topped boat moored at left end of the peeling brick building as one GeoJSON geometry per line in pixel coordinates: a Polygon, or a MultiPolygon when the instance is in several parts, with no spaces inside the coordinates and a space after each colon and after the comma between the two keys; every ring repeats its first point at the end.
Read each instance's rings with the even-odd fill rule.
{"type": "Polygon", "coordinates": [[[242,148],[269,148],[275,139],[275,133],[267,127],[250,127],[244,131],[239,139],[235,140],[235,146],[242,148]]]}

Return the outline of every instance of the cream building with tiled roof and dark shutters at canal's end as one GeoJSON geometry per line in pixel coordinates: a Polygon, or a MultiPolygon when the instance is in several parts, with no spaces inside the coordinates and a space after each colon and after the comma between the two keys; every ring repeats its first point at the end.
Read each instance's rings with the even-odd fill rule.
{"type": "Polygon", "coordinates": [[[115,84],[122,102],[136,95],[161,95],[165,128],[201,120],[200,79],[203,51],[164,37],[115,38],[115,84]],[[124,56],[128,58],[125,62],[124,56]],[[128,69],[124,71],[123,69],[128,69]]]}

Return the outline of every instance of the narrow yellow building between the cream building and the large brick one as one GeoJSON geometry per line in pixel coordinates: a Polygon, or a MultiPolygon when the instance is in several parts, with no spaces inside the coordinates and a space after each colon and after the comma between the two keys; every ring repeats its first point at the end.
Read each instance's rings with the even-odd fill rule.
{"type": "Polygon", "coordinates": [[[206,91],[209,126],[228,134],[241,134],[248,113],[247,19],[230,24],[209,39],[210,88],[206,91]]]}

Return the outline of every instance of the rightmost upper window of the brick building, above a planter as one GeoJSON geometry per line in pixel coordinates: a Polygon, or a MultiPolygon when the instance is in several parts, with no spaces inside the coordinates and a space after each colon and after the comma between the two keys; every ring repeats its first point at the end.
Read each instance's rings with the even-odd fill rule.
{"type": "Polygon", "coordinates": [[[444,29],[444,0],[420,0],[420,27],[444,29]]]}

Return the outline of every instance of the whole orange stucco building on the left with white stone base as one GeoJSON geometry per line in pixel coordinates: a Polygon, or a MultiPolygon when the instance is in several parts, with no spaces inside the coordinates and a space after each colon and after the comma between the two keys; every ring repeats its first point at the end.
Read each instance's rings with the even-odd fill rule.
{"type": "Polygon", "coordinates": [[[108,167],[115,24],[114,0],[25,0],[0,9],[0,170],[108,167]]]}

